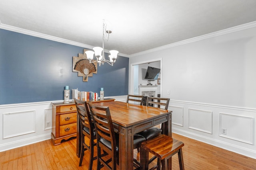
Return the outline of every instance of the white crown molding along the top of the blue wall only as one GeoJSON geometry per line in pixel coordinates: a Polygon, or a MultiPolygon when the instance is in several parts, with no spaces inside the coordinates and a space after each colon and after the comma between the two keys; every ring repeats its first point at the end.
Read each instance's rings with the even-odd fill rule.
{"type": "MultiPolygon", "coordinates": [[[[17,32],[17,33],[31,35],[31,36],[34,36],[34,37],[39,37],[39,38],[43,38],[43,39],[57,41],[57,42],[60,42],[60,43],[75,45],[75,46],[83,47],[83,48],[86,48],[86,49],[92,49],[94,47],[94,46],[91,46],[91,45],[87,45],[87,44],[83,44],[83,43],[78,43],[76,41],[70,41],[68,39],[54,37],[52,35],[46,35],[46,34],[43,34],[43,33],[38,33],[38,32],[30,31],[30,30],[27,30],[27,29],[22,29],[22,28],[19,28],[19,27],[13,27],[13,26],[1,23],[1,21],[0,21],[0,28],[1,29],[6,29],[8,31],[14,31],[14,32],[17,32]]],[[[109,53],[109,50],[104,49],[104,52],[105,53],[109,53]]],[[[122,53],[118,53],[118,56],[129,57],[129,55],[122,54],[122,53]]]]}

